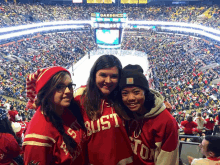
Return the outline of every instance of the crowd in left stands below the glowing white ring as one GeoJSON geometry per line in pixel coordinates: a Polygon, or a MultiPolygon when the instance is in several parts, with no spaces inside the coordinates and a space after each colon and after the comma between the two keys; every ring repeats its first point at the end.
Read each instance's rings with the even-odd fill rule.
{"type": "Polygon", "coordinates": [[[85,31],[39,34],[0,47],[1,95],[27,101],[25,80],[28,74],[53,65],[69,68],[94,47],[93,37],[85,31]],[[9,55],[19,59],[5,58],[9,55]]]}

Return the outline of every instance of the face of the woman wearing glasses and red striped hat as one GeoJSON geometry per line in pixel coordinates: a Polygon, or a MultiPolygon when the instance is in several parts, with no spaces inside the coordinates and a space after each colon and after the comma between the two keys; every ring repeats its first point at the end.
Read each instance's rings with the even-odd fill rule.
{"type": "MultiPolygon", "coordinates": [[[[63,80],[58,84],[59,86],[70,86],[72,84],[72,80],[69,74],[66,74],[63,80]]],[[[63,109],[64,107],[68,107],[70,105],[71,100],[73,99],[73,89],[66,87],[64,90],[56,89],[52,102],[54,104],[54,108],[57,110],[63,109]]],[[[56,110],[56,111],[57,111],[56,110]]]]}

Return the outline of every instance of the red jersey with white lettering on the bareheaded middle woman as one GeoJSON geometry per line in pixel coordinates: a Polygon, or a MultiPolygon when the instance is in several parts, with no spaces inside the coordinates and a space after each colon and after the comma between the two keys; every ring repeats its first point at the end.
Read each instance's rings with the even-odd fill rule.
{"type": "MultiPolygon", "coordinates": [[[[78,103],[82,103],[80,95],[75,97],[78,103]]],[[[91,121],[81,106],[83,119],[87,128],[88,155],[90,164],[116,165],[121,161],[132,159],[133,155],[130,140],[127,136],[124,121],[117,115],[115,109],[102,100],[102,116],[91,121]]],[[[126,163],[130,165],[132,163],[126,163]]]]}

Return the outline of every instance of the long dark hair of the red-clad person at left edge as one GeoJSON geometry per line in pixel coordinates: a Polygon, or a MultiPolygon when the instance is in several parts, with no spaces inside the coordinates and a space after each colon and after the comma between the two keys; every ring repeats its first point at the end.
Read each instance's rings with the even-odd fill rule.
{"type": "Polygon", "coordinates": [[[18,144],[21,144],[21,140],[14,133],[11,126],[11,122],[8,120],[8,118],[0,120],[0,133],[9,133],[13,135],[16,141],[18,142],[18,144]]]}

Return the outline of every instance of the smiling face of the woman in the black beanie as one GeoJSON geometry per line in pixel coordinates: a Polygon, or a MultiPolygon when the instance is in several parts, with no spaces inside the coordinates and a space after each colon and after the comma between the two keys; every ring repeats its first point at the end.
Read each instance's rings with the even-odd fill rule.
{"type": "Polygon", "coordinates": [[[144,101],[145,95],[144,90],[138,87],[125,87],[122,92],[122,101],[130,111],[139,114],[145,113],[144,101]]]}

